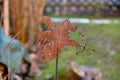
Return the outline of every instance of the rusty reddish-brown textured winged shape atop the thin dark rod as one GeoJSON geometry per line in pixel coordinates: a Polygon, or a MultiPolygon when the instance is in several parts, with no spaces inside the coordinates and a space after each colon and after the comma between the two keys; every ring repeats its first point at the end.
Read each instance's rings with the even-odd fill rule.
{"type": "Polygon", "coordinates": [[[70,40],[70,34],[76,31],[77,26],[70,24],[69,20],[64,20],[60,25],[60,29],[48,17],[43,17],[42,22],[48,29],[43,31],[36,41],[40,48],[38,51],[40,62],[51,61],[64,46],[79,46],[78,42],[70,40]]]}

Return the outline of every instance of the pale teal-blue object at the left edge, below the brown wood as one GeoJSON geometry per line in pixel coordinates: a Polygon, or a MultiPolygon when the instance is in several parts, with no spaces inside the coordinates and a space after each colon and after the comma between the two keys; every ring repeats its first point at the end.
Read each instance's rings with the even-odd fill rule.
{"type": "Polygon", "coordinates": [[[19,40],[8,38],[0,27],[0,63],[9,67],[12,75],[19,69],[22,59],[30,62],[24,45],[19,40]]]}

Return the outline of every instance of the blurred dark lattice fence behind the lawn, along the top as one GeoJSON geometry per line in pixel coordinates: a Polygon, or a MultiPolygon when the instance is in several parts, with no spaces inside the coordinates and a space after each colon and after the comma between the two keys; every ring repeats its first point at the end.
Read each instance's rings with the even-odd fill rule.
{"type": "Polygon", "coordinates": [[[45,14],[120,17],[119,0],[46,0],[45,14]]]}

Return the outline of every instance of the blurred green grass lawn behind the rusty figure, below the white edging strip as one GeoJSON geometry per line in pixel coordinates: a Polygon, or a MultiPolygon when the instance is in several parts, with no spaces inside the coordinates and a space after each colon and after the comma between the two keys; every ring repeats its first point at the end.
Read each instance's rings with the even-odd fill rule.
{"type": "MultiPolygon", "coordinates": [[[[87,39],[87,46],[94,48],[96,52],[86,50],[79,55],[75,55],[75,52],[80,48],[63,48],[59,55],[59,76],[67,75],[67,61],[72,60],[79,65],[100,68],[104,79],[120,79],[120,24],[78,25],[78,30],[72,33],[72,38],[82,43],[79,33],[83,32],[87,39]]],[[[46,80],[46,77],[54,77],[54,63],[54,60],[46,63],[42,77],[36,80],[46,80]]]]}

